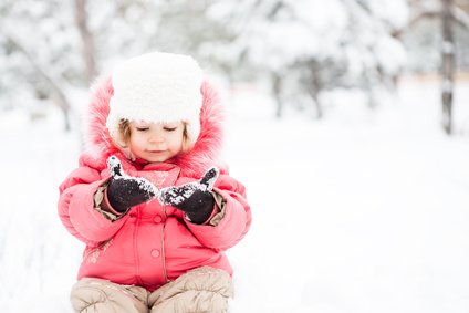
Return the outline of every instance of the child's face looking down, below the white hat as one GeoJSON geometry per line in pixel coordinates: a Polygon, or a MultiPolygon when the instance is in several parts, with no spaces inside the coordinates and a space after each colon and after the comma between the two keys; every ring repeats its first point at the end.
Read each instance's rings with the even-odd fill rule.
{"type": "Polygon", "coordinates": [[[184,123],[131,122],[131,152],[149,163],[160,163],[183,150],[184,123]]]}

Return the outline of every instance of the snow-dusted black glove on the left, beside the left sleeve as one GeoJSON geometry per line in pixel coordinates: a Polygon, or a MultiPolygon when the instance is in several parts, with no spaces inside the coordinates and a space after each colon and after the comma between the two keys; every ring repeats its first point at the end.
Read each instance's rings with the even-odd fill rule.
{"type": "Polygon", "coordinates": [[[126,175],[115,156],[107,159],[107,168],[111,171],[107,200],[116,211],[124,212],[133,206],[155,198],[158,194],[158,188],[147,179],[126,175]]]}

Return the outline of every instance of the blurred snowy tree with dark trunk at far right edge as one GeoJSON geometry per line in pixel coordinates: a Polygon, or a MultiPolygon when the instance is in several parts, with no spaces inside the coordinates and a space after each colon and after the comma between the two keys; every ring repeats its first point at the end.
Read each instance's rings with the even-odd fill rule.
{"type": "Polygon", "coordinates": [[[467,59],[468,3],[457,0],[413,0],[411,4],[413,18],[403,36],[416,60],[414,70],[438,71],[441,74],[441,124],[445,132],[451,134],[455,73],[458,67],[465,69],[467,59]],[[425,58],[421,58],[424,54],[425,58]]]}

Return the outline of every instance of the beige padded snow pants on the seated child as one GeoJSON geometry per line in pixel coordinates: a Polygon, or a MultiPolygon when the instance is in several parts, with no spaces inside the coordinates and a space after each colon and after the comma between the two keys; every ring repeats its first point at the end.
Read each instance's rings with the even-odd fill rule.
{"type": "Polygon", "coordinates": [[[152,293],[142,286],[84,278],[72,288],[70,299],[80,313],[221,313],[232,295],[226,271],[202,267],[152,293]]]}

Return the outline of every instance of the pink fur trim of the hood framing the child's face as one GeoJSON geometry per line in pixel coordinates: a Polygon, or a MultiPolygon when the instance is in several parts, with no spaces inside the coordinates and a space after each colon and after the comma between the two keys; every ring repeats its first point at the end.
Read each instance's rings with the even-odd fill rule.
{"type": "MultiPolygon", "coordinates": [[[[202,95],[202,106],[200,111],[200,134],[194,147],[170,160],[171,164],[180,168],[180,175],[199,178],[212,166],[220,168],[220,173],[227,173],[226,166],[219,160],[222,144],[222,122],[223,114],[218,93],[204,82],[200,92],[202,95]]],[[[104,169],[106,159],[111,155],[116,155],[124,159],[125,154],[111,138],[106,127],[106,119],[110,114],[110,101],[114,88],[112,79],[106,77],[97,81],[92,87],[92,98],[87,109],[85,135],[86,150],[81,156],[81,163],[95,168],[104,169]]],[[[132,161],[127,158],[128,163],[132,161]]],[[[142,166],[133,164],[135,167],[142,166]]],[[[125,168],[125,165],[124,165],[125,168]]]]}

